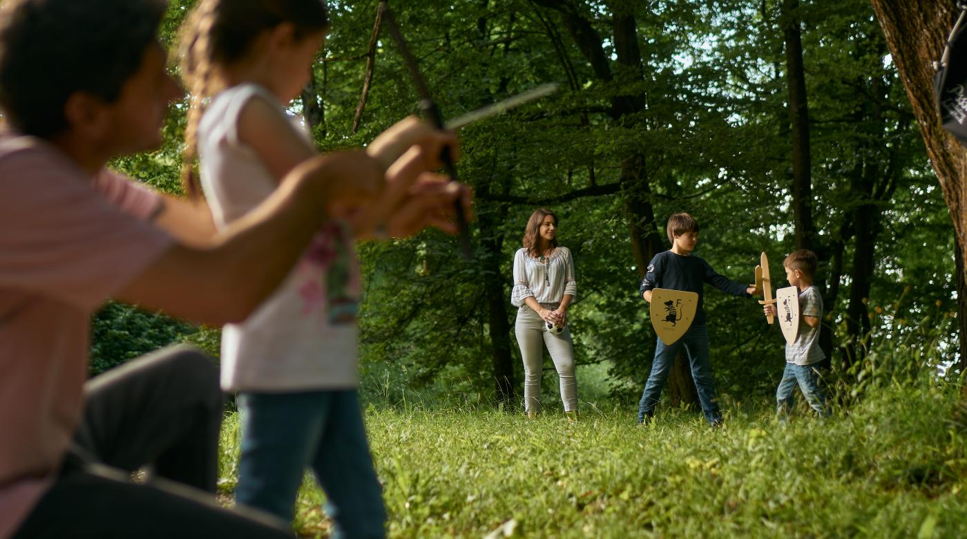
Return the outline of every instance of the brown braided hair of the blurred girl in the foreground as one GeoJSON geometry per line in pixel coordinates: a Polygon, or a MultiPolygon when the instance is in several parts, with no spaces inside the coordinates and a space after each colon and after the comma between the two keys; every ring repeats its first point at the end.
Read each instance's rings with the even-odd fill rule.
{"type": "Polygon", "coordinates": [[[198,122],[205,104],[220,91],[213,80],[217,68],[249,54],[262,32],[282,23],[292,24],[296,39],[329,29],[322,0],[201,0],[191,12],[179,40],[181,73],[190,91],[182,183],[190,196],[199,195],[194,177],[198,122]]]}

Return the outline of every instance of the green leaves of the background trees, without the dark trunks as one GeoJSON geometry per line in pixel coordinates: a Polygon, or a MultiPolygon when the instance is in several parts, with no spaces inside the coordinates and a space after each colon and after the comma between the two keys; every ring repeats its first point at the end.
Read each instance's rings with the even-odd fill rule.
{"type": "MultiPolygon", "coordinates": [[[[631,255],[623,186],[608,195],[567,196],[617,185],[630,153],[643,156],[654,223],[689,211],[702,225],[696,255],[730,279],[750,282],[762,251],[779,260],[794,249],[789,193],[788,113],[779,2],[579,3],[601,37],[614,73],[614,13],[634,17],[643,73],[640,80],[602,80],[563,29],[551,2],[431,1],[395,5],[397,19],[445,116],[555,80],[562,89],[539,103],[472,124],[461,131],[459,174],[477,192],[472,225],[476,260],[455,254],[454,241],[435,231],[415,238],[360,246],[366,277],[362,306],[362,368],[398,374],[415,389],[450,386],[493,397],[493,343],[486,299],[510,297],[513,252],[527,216],[548,204],[562,217],[560,237],[574,254],[578,300],[571,320],[575,356],[607,365],[615,395],[631,399],[648,373],[655,337],[637,295],[642,268],[631,255]],[[615,96],[645,96],[637,113],[615,118],[615,96]],[[484,247],[492,242],[496,251],[484,247]],[[485,261],[495,257],[495,266],[485,261]],[[497,287],[485,284],[495,276],[497,287]]],[[[162,42],[173,43],[190,0],[169,3],[162,42]]],[[[324,121],[314,135],[323,151],[366,144],[397,119],[417,112],[418,97],[384,29],[375,50],[373,83],[362,124],[353,117],[366,75],[366,46],[377,2],[330,2],[333,29],[314,68],[324,121]]],[[[940,301],[952,309],[952,228],[923,153],[909,105],[872,12],[863,0],[803,2],[806,80],[812,118],[813,195],[817,227],[831,249],[841,246],[835,301],[826,306],[839,337],[846,326],[856,239],[853,212],[870,195],[857,174],[896,172],[891,196],[873,200],[882,212],[874,238],[875,270],[868,305],[890,305],[907,289],[902,317],[915,319],[940,301]],[[873,114],[879,106],[880,116],[873,114]],[[871,118],[878,117],[879,121],[871,118]],[[887,166],[890,164],[890,166],[887,166]]],[[[172,107],[161,149],[112,165],[168,193],[180,193],[178,166],[184,103],[172,107]]],[[[298,112],[296,103],[293,110],[298,112]]],[[[663,233],[659,234],[663,237],[663,233]]],[[[822,261],[821,280],[835,277],[835,260],[822,261]]],[[[777,280],[778,281],[778,280],[777,280]]],[[[780,283],[776,283],[780,284],[780,283]]],[[[506,303],[513,332],[513,309],[506,303]]],[[[781,358],[782,341],[754,302],[706,294],[712,360],[726,395],[765,395],[781,358]]],[[[128,323],[108,310],[99,323],[128,323]]],[[[874,319],[873,336],[889,331],[874,319]]],[[[163,338],[190,333],[171,322],[163,338]]],[[[940,338],[949,350],[952,326],[940,338]]],[[[126,331],[136,334],[133,326],[126,331]]],[[[130,355],[120,343],[109,362],[130,355]]],[[[208,335],[209,340],[212,334],[208,335]]],[[[100,347],[100,348],[99,348],[100,347]]],[[[143,347],[143,346],[141,346],[143,347]]],[[[137,348],[141,349],[141,348],[137,348]]],[[[103,356],[107,351],[99,352],[103,356]]],[[[516,379],[519,353],[513,343],[516,379]]],[[[106,357],[106,356],[105,356],[106,357]]]]}

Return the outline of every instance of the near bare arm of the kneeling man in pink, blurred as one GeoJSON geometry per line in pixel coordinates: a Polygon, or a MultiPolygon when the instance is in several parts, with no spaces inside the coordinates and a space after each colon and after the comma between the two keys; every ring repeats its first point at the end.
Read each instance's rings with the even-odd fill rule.
{"type": "Polygon", "coordinates": [[[117,297],[196,322],[243,320],[285,278],[333,202],[371,196],[382,178],[382,167],[363,152],[312,159],[210,246],[168,249],[117,297]]]}

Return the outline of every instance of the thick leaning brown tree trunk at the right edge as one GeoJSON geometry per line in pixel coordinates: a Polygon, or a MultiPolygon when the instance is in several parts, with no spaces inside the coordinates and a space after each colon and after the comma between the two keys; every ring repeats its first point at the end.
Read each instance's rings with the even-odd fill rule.
{"type": "MultiPolygon", "coordinates": [[[[967,249],[967,152],[953,135],[944,131],[933,93],[933,62],[940,59],[958,15],[951,0],[871,0],[876,18],[887,36],[896,70],[903,80],[913,113],[920,124],[926,155],[940,181],[950,208],[956,248],[967,249]]],[[[958,268],[957,280],[963,279],[958,268]]],[[[957,316],[963,327],[967,313],[958,302],[957,316]]],[[[964,339],[961,330],[961,340],[964,339]]],[[[961,356],[963,361],[963,356],[961,356]]],[[[965,387],[967,391],[967,387],[965,387]]]]}

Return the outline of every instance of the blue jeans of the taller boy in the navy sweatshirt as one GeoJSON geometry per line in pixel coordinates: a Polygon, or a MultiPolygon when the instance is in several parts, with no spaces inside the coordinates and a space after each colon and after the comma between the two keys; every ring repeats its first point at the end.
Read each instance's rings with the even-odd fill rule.
{"type": "Polygon", "coordinates": [[[644,421],[646,416],[651,417],[655,413],[661,388],[664,387],[668,374],[675,364],[675,355],[682,346],[685,346],[686,354],[689,356],[691,377],[695,380],[698,402],[705,412],[705,419],[712,425],[721,421],[716,388],[712,381],[712,363],[709,360],[709,333],[703,323],[689,327],[685,335],[670,346],[658,340],[658,345],[655,347],[655,361],[652,362],[652,373],[648,375],[645,391],[641,394],[641,402],[638,404],[639,423],[644,421]]]}

